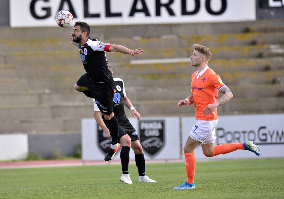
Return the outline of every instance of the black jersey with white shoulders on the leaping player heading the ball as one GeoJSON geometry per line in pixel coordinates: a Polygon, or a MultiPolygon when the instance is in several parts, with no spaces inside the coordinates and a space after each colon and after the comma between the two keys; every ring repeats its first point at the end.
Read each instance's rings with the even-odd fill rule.
{"type": "Polygon", "coordinates": [[[81,61],[93,83],[106,83],[112,77],[105,54],[105,51],[109,51],[110,45],[110,43],[88,38],[87,42],[79,48],[81,61]]]}

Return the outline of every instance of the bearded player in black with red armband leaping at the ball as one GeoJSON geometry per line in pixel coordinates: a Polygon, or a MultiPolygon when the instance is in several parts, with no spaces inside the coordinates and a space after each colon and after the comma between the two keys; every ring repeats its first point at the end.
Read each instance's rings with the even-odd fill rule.
{"type": "Polygon", "coordinates": [[[114,158],[120,148],[118,143],[118,121],[113,113],[113,89],[112,73],[108,69],[105,51],[126,53],[131,56],[142,54],[143,49],[130,50],[121,45],[103,43],[97,39],[91,39],[90,26],[85,22],[76,22],[72,31],[71,43],[79,48],[80,58],[87,72],[75,83],[76,91],[83,92],[87,97],[94,98],[99,110],[105,115],[110,127],[112,141],[110,150],[105,156],[105,161],[114,158]]]}

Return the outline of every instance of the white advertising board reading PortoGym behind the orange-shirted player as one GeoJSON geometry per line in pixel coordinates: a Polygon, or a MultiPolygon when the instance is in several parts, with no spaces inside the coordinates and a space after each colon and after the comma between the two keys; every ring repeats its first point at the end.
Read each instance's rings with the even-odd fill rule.
{"type": "MultiPolygon", "coordinates": [[[[181,118],[182,146],[187,141],[189,132],[195,122],[195,117],[181,118]]],[[[220,154],[210,158],[284,157],[284,114],[218,116],[218,124],[215,130],[217,138],[214,145],[252,140],[259,146],[260,156],[256,156],[247,150],[236,150],[228,154],[220,154]]],[[[198,146],[194,153],[197,159],[206,158],[201,146],[198,146]]],[[[184,158],[183,155],[182,158],[184,158]]]]}

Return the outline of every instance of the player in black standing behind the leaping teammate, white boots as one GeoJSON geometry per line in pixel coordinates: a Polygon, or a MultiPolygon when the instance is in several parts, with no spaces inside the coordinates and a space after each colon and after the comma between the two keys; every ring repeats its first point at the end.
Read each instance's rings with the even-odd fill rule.
{"type": "MultiPolygon", "coordinates": [[[[110,71],[112,72],[110,66],[109,68],[110,71]]],[[[114,78],[113,101],[114,101],[113,112],[116,115],[116,118],[119,123],[118,140],[120,143],[123,144],[120,150],[120,159],[122,166],[122,176],[120,177],[120,181],[126,184],[132,184],[132,181],[128,173],[129,151],[131,147],[135,154],[136,166],[138,167],[138,173],[139,173],[138,181],[156,182],[145,175],[145,158],[143,154],[143,148],[139,142],[137,131],[126,117],[124,111],[124,105],[131,110],[133,117],[137,116],[137,120],[139,120],[140,114],[135,110],[135,108],[132,106],[131,101],[126,96],[124,82],[120,78],[114,78]]],[[[95,99],[93,99],[93,102],[95,103],[95,99]]],[[[94,118],[99,124],[99,126],[103,129],[103,131],[105,131],[108,138],[111,139],[108,129],[109,127],[108,121],[105,119],[104,116],[101,116],[101,112],[96,103],[94,104],[94,118]]]]}

